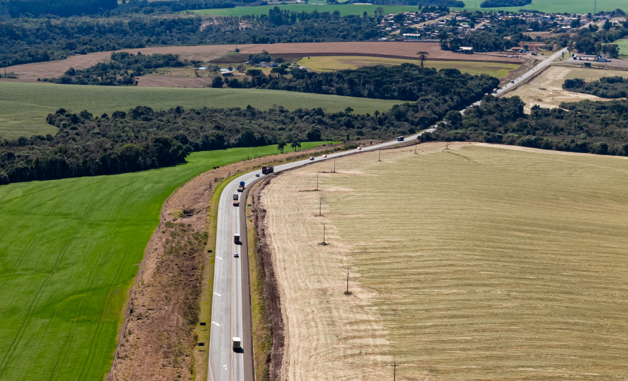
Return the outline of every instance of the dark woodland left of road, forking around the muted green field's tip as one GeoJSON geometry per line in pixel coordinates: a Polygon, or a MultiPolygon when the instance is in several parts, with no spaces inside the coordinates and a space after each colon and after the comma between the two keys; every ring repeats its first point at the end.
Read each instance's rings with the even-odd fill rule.
{"type": "Polygon", "coordinates": [[[296,149],[305,140],[405,135],[428,128],[447,112],[475,102],[498,84],[489,76],[409,64],[313,74],[301,72],[301,77],[294,79],[293,90],[336,91],[338,86],[347,86],[363,96],[403,96],[416,102],[373,115],[355,115],[351,108],[325,113],[321,108],[286,111],[281,106],[268,111],[251,106],[153,111],[138,106],[128,112],[94,117],[88,111],[76,114],[61,108],[47,116],[47,122],[58,128],[55,136],[0,141],[0,183],[146,170],[181,163],[189,152],[201,150],[282,142],[292,142],[296,149]]]}

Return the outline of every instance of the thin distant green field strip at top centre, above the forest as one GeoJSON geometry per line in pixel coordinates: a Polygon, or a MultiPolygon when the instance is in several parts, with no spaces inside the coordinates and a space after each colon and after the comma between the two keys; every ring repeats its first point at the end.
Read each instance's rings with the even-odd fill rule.
{"type": "MultiPolygon", "coordinates": [[[[334,12],[338,10],[342,16],[349,14],[358,14],[362,16],[364,12],[367,12],[369,16],[373,16],[375,9],[382,7],[384,14],[399,13],[399,12],[416,12],[418,7],[412,5],[363,5],[363,4],[347,4],[347,5],[319,5],[319,4],[288,4],[277,5],[283,10],[290,10],[292,12],[334,12]]],[[[260,5],[257,7],[235,7],[235,8],[218,8],[218,9],[203,9],[203,10],[185,10],[181,12],[193,12],[197,14],[211,14],[215,16],[244,16],[248,14],[268,14],[268,10],[275,8],[275,5],[260,5]]]]}

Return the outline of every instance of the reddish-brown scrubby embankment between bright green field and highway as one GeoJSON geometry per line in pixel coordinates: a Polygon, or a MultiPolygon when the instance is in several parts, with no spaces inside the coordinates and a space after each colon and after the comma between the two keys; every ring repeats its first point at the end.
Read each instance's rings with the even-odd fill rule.
{"type": "MultiPolygon", "coordinates": [[[[165,201],[159,226],[146,248],[108,380],[191,380],[194,374],[205,374],[207,343],[195,347],[206,339],[195,336],[194,328],[202,284],[209,282],[202,279],[203,273],[213,258],[207,250],[214,248],[206,247],[205,242],[213,242],[213,231],[207,227],[216,187],[224,178],[266,163],[343,146],[321,146],[224,165],[178,188],[165,201]]],[[[213,274],[213,268],[209,273],[213,274]]]]}

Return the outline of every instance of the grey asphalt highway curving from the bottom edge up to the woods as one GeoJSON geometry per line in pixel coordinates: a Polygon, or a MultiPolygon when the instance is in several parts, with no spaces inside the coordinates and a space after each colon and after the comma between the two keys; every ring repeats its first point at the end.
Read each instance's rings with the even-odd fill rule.
{"type": "MultiPolygon", "coordinates": [[[[412,141],[424,132],[410,135],[412,141]]],[[[360,152],[378,150],[399,144],[388,141],[363,147],[360,152]]],[[[358,152],[349,150],[328,154],[327,158],[316,157],[314,162],[334,159],[358,152]]],[[[275,166],[275,173],[312,163],[310,160],[295,161],[275,166]]],[[[211,302],[211,328],[209,336],[208,381],[253,381],[253,338],[251,336],[251,294],[248,281],[248,245],[246,244],[246,194],[249,187],[264,178],[260,170],[249,172],[227,184],[218,202],[218,225],[216,228],[216,262],[213,275],[213,298],[211,302]],[[259,173],[259,177],[255,174],[259,173]],[[233,194],[237,194],[240,181],[246,189],[240,194],[240,207],[233,207],[233,194]],[[239,234],[242,244],[235,244],[234,235],[239,234]],[[234,257],[238,253],[240,257],[234,257]],[[234,351],[233,337],[242,338],[242,350],[234,351]]]]}

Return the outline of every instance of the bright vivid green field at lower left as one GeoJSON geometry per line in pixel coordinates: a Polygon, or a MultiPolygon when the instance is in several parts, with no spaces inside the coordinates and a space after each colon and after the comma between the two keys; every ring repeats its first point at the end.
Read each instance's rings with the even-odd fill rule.
{"type": "Polygon", "coordinates": [[[196,152],[172,168],[1,186],[0,380],[102,380],[167,196],[215,165],[275,153],[196,152]]]}

